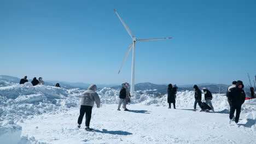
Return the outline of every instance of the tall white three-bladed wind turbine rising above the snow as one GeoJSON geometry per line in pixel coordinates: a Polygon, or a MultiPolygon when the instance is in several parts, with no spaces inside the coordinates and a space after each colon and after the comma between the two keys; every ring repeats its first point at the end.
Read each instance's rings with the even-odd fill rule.
{"type": "Polygon", "coordinates": [[[136,41],[154,41],[154,40],[162,40],[162,39],[171,39],[171,38],[156,38],[156,39],[137,39],[136,37],[133,36],[131,30],[129,29],[129,27],[127,27],[127,25],[125,24],[125,22],[121,19],[121,17],[119,16],[119,14],[117,13],[117,11],[114,9],[115,11],[115,14],[117,14],[119,20],[123,23],[126,31],[129,33],[129,35],[131,36],[132,38],[132,43],[130,44],[130,46],[128,47],[128,50],[125,54],[125,57],[124,57],[124,60],[121,64],[121,67],[118,71],[118,74],[120,73],[124,63],[125,63],[125,60],[127,58],[127,56],[129,55],[131,49],[132,49],[132,71],[131,71],[131,96],[133,96],[134,94],[134,83],[135,83],[135,44],[136,44],[136,41]]]}

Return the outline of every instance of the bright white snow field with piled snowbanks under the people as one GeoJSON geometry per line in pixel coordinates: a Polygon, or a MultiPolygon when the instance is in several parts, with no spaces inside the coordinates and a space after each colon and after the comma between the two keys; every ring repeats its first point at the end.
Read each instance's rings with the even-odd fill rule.
{"type": "MultiPolygon", "coordinates": [[[[77,128],[84,90],[3,82],[0,86],[0,143],[256,143],[256,99],[242,106],[238,127],[228,124],[224,94],[213,94],[216,112],[191,111],[194,92],[178,92],[177,109],[167,95],[136,94],[130,111],[117,111],[119,91],[98,91],[102,106],[92,109],[90,127],[77,128]],[[173,106],[172,106],[173,107],[173,106]]],[[[149,90],[151,91],[151,90],[149,90]]],[[[202,95],[203,97],[203,95],[202,95]]]]}

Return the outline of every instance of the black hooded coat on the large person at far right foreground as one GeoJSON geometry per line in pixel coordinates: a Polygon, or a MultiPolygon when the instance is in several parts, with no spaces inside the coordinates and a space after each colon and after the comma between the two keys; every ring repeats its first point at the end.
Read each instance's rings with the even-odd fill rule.
{"type": "Polygon", "coordinates": [[[243,103],[245,103],[245,91],[243,91],[242,88],[238,88],[238,85],[242,85],[242,88],[244,87],[242,81],[237,81],[236,87],[229,89],[228,99],[231,106],[241,106],[243,103]]]}

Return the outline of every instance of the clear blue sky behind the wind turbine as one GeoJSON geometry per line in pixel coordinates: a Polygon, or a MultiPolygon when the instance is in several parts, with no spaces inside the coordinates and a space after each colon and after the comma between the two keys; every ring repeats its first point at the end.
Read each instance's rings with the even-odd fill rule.
{"type": "MultiPolygon", "coordinates": [[[[85,83],[231,83],[256,74],[255,1],[0,1],[0,75],[85,83]]],[[[246,82],[247,83],[247,82],[246,82]]]]}

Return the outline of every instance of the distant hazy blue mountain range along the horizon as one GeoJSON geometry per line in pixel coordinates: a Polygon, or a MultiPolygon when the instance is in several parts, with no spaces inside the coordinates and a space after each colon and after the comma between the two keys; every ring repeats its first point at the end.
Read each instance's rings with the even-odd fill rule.
{"type": "MultiPolygon", "coordinates": [[[[19,83],[20,79],[18,77],[13,77],[13,76],[8,76],[8,75],[0,75],[0,80],[4,80],[4,81],[8,81],[8,82],[13,82],[13,83],[19,83]]],[[[28,80],[28,81],[32,81],[32,80],[28,80]]],[[[90,84],[89,83],[82,83],[82,82],[63,82],[63,81],[44,81],[45,85],[47,86],[55,86],[56,83],[60,83],[61,87],[64,88],[83,88],[83,89],[87,89],[90,84]]],[[[178,91],[193,91],[194,85],[181,85],[181,86],[177,86],[178,87],[178,91]]],[[[209,89],[209,91],[211,91],[212,93],[226,93],[229,85],[223,85],[223,84],[215,84],[215,83],[199,83],[197,84],[197,86],[199,86],[199,88],[203,88],[206,87],[207,89],[209,89]]],[[[113,86],[113,85],[101,85],[101,84],[97,84],[98,88],[103,88],[103,87],[110,87],[113,89],[120,89],[121,85],[119,86],[113,86]]],[[[167,84],[166,85],[156,85],[154,83],[150,83],[150,82],[144,82],[144,83],[137,83],[135,85],[135,90],[136,91],[146,91],[146,90],[154,90],[156,89],[156,91],[147,91],[146,93],[158,93],[158,94],[166,94],[167,93],[167,84]]],[[[246,92],[249,92],[249,89],[246,88],[246,92]]]]}

